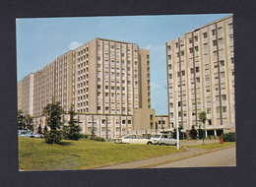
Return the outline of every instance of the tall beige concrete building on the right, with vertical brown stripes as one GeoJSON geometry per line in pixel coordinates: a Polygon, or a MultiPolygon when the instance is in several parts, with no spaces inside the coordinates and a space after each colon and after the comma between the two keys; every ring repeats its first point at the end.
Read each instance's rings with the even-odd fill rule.
{"type": "Polygon", "coordinates": [[[208,135],[234,131],[232,16],[166,42],[168,116],[189,130],[207,112],[208,135]]]}

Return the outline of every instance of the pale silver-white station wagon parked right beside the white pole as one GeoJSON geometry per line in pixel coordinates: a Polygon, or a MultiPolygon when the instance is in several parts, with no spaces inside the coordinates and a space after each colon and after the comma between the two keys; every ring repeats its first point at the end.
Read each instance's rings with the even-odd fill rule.
{"type": "Polygon", "coordinates": [[[177,140],[172,139],[170,134],[156,134],[151,137],[148,144],[154,145],[177,145],[177,140]]]}

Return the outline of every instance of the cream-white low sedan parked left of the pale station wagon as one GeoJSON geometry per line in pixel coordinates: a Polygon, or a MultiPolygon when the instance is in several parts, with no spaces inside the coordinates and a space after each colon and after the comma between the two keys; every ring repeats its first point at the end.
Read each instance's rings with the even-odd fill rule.
{"type": "Polygon", "coordinates": [[[123,135],[118,138],[113,138],[115,143],[120,144],[145,144],[147,145],[149,139],[142,138],[140,135],[123,135]]]}

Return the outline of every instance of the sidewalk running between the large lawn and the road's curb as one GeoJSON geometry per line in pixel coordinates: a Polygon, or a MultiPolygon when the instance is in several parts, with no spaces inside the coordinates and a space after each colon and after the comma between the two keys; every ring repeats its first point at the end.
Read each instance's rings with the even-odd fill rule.
{"type": "Polygon", "coordinates": [[[131,161],[131,162],[126,162],[126,163],[119,163],[115,165],[109,165],[109,166],[104,166],[104,167],[99,167],[95,169],[132,169],[132,168],[149,168],[153,167],[156,165],[172,162],[172,161],[177,161],[193,156],[201,156],[204,154],[216,152],[219,150],[223,150],[226,148],[230,147],[224,147],[221,149],[216,149],[216,150],[211,150],[211,151],[206,151],[206,150],[201,150],[201,149],[195,149],[195,148],[185,148],[187,151],[182,152],[182,153],[177,153],[177,154],[172,154],[168,156],[159,156],[159,157],[152,157],[148,159],[142,159],[142,160],[137,160],[137,161],[131,161]]]}

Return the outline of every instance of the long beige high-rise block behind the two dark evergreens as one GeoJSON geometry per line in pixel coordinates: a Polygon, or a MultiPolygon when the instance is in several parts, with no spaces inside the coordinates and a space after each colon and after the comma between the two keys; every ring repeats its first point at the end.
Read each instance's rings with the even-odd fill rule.
{"type": "Polygon", "coordinates": [[[54,98],[66,112],[73,104],[85,134],[110,139],[156,129],[150,51],[136,43],[95,38],[68,51],[34,73],[32,98],[35,128],[45,125],[42,110],[54,98]]]}

